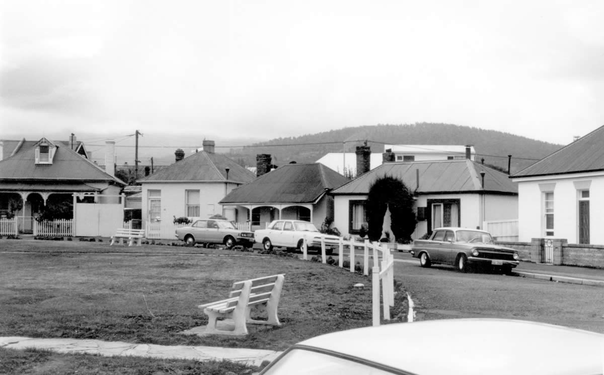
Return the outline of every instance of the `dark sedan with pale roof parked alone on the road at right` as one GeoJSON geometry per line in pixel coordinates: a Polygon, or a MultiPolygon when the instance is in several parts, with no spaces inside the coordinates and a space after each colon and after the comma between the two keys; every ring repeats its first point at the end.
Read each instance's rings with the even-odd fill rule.
{"type": "Polygon", "coordinates": [[[437,228],[428,240],[415,240],[411,254],[420,266],[432,263],[451,264],[461,272],[469,266],[491,266],[510,274],[518,266],[519,255],[514,249],[497,246],[486,231],[467,228],[437,228]]]}

